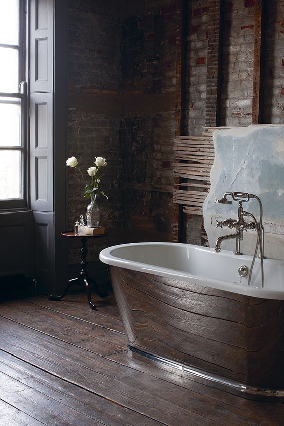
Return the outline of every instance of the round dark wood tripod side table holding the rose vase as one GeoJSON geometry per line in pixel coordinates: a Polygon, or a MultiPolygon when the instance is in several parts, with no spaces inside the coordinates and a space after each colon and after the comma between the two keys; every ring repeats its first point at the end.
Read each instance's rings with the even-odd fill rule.
{"type": "Polygon", "coordinates": [[[80,271],[77,278],[73,278],[73,279],[70,279],[68,281],[67,286],[66,286],[65,290],[63,291],[63,293],[61,295],[52,294],[52,295],[49,296],[49,300],[60,300],[60,299],[62,299],[67,294],[67,291],[70,288],[70,286],[77,283],[77,284],[83,285],[85,287],[86,292],[87,292],[89,306],[90,306],[91,309],[95,310],[96,307],[91,300],[90,284],[92,284],[94,286],[96,293],[100,297],[102,297],[102,298],[106,297],[108,293],[107,293],[107,291],[104,291],[104,292],[99,291],[96,281],[92,278],[89,278],[89,276],[88,276],[87,262],[86,262],[86,255],[88,253],[88,250],[86,248],[86,243],[89,239],[92,239],[92,238],[107,237],[108,233],[99,234],[99,235],[89,235],[89,234],[74,235],[74,231],[64,231],[64,232],[61,232],[61,235],[63,237],[66,237],[66,238],[75,238],[75,239],[77,238],[77,239],[81,240],[81,244],[82,244],[82,248],[81,248],[81,251],[80,251],[81,252],[81,271],[80,271]]]}

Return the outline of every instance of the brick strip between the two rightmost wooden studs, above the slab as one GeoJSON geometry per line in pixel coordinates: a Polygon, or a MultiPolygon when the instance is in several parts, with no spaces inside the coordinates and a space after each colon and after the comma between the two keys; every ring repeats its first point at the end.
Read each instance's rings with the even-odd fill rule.
{"type": "Polygon", "coordinates": [[[251,124],[254,5],[246,5],[243,0],[223,5],[220,125],[251,124]]]}

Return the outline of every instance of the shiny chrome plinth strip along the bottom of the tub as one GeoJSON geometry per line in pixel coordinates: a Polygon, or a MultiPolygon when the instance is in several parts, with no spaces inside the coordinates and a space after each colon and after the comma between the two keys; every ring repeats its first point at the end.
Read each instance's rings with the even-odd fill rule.
{"type": "Polygon", "coordinates": [[[127,348],[131,352],[131,354],[138,354],[152,361],[162,363],[168,367],[175,368],[184,373],[192,375],[193,377],[190,377],[190,379],[201,379],[201,382],[205,385],[236,394],[246,399],[267,402],[284,402],[284,388],[271,389],[250,386],[246,383],[238,382],[234,379],[229,379],[214,373],[209,373],[204,370],[179,363],[178,361],[172,361],[166,358],[162,358],[153,353],[148,353],[143,350],[137,349],[134,346],[131,346],[130,344],[127,345],[127,348]]]}

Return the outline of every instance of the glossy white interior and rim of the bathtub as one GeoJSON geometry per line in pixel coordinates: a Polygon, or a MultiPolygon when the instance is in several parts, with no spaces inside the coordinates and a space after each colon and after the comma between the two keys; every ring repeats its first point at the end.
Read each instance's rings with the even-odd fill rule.
{"type": "Polygon", "coordinates": [[[104,263],[255,297],[284,299],[284,261],[264,259],[264,289],[260,260],[256,259],[251,286],[240,266],[251,266],[252,256],[179,243],[133,243],[109,247],[100,253],[104,263]]]}

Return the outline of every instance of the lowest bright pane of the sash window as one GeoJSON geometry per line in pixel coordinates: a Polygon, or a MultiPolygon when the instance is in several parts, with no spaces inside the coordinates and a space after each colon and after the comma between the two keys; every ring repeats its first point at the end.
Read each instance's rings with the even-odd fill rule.
{"type": "Polygon", "coordinates": [[[1,150],[0,199],[22,198],[22,153],[1,150]]]}

